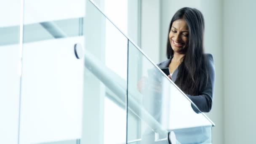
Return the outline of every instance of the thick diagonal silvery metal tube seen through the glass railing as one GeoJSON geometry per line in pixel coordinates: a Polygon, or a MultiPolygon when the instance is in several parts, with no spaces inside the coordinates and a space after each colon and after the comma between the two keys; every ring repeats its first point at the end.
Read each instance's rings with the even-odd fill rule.
{"type": "MultiPolygon", "coordinates": [[[[43,22],[40,23],[53,37],[64,38],[67,35],[61,31],[61,29],[54,24],[53,22],[43,22]]],[[[85,50],[85,67],[87,67],[93,75],[95,75],[102,83],[104,83],[111,91],[115,93],[118,98],[126,102],[127,90],[126,88],[118,85],[113,81],[116,75],[109,68],[102,66],[101,62],[95,58],[90,52],[85,50]]],[[[137,93],[136,93],[137,94],[137,93]]],[[[115,97],[113,97],[115,98],[115,97]]],[[[147,123],[155,132],[160,135],[167,135],[168,131],[163,128],[163,126],[155,120],[152,115],[150,115],[141,105],[133,99],[133,97],[129,97],[129,107],[128,109],[133,112],[136,116],[138,116],[141,120],[147,123]],[[141,118],[141,114],[143,114],[143,118],[141,118]]]]}

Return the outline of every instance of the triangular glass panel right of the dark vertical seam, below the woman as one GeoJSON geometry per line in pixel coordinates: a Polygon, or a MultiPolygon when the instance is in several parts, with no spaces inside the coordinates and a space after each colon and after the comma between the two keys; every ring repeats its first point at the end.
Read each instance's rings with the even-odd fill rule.
{"type": "Polygon", "coordinates": [[[144,53],[128,45],[128,141],[165,144],[168,131],[173,131],[181,144],[211,143],[211,121],[144,53]],[[139,127],[131,113],[137,115],[139,127]]]}

